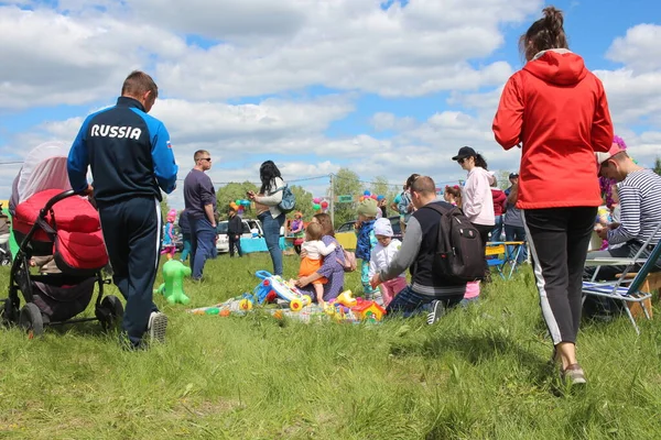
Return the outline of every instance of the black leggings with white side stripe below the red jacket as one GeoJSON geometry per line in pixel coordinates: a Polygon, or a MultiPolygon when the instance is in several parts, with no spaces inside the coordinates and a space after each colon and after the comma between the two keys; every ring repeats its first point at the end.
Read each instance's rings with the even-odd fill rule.
{"type": "Polygon", "coordinates": [[[553,344],[576,343],[583,268],[597,208],[525,209],[522,215],[540,306],[553,344]]]}

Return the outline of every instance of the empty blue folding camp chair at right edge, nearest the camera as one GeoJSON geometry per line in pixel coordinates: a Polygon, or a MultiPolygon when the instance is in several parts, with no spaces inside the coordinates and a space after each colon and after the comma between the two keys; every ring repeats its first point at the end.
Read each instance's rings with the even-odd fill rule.
{"type": "Polygon", "coordinates": [[[625,306],[624,308],[627,311],[627,315],[629,316],[629,320],[633,324],[633,328],[638,334],[640,334],[640,329],[638,328],[638,324],[631,315],[631,310],[629,307],[627,307],[627,302],[638,302],[644,312],[644,317],[650,319],[650,314],[643,301],[649,300],[652,297],[652,294],[651,292],[641,292],[640,287],[644,284],[647,276],[661,256],[661,242],[657,243],[648,258],[641,258],[640,255],[642,254],[643,250],[650,245],[652,239],[657,235],[657,232],[660,228],[661,224],[655,228],[654,232],[632,258],[605,257],[587,260],[585,262],[586,266],[625,266],[625,270],[615,282],[596,282],[599,275],[599,267],[597,267],[592,279],[589,282],[583,282],[583,300],[585,301],[586,295],[594,295],[621,301],[625,306]],[[642,267],[638,268],[639,265],[642,265],[642,267]],[[633,278],[627,276],[629,273],[635,271],[638,273],[633,278]]]}

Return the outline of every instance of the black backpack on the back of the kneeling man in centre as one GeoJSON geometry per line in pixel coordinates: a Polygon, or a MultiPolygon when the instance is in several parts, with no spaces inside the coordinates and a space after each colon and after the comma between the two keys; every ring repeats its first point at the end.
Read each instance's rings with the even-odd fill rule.
{"type": "Polygon", "coordinates": [[[430,204],[424,208],[441,215],[433,271],[448,282],[483,279],[487,270],[485,250],[477,229],[464,212],[449,204],[430,204]]]}

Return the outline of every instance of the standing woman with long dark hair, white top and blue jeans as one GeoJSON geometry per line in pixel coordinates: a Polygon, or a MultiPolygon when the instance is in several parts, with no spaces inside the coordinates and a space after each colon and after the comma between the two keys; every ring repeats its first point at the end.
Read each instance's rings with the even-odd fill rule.
{"type": "Polygon", "coordinates": [[[262,223],[264,241],[273,261],[273,275],[282,275],[282,249],[280,249],[280,229],[284,224],[284,212],[278,208],[282,201],[284,180],[273,161],[267,161],[259,168],[261,188],[259,195],[248,191],[248,198],[269,207],[257,216],[262,223]]]}

